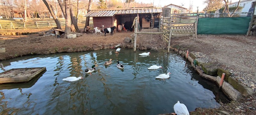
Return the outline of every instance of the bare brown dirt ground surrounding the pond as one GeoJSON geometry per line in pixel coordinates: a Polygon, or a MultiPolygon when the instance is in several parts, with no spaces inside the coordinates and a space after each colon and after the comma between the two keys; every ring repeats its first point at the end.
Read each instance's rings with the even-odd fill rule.
{"type": "MultiPolygon", "coordinates": [[[[45,29],[46,30],[46,29],[45,29]]],[[[48,29],[47,29],[48,30],[48,29]]],[[[18,31],[18,30],[12,30],[18,31]]],[[[38,30],[19,30],[36,32],[38,30]]],[[[44,31],[44,30],[40,30],[44,31]]],[[[0,48],[5,48],[5,53],[0,53],[0,60],[30,54],[49,54],[57,52],[74,52],[111,48],[117,44],[121,47],[133,48],[132,43],[124,43],[125,37],[131,37],[132,32],[117,32],[113,35],[84,34],[75,39],[56,38],[55,36],[43,37],[34,35],[0,35],[0,48]]],[[[232,72],[234,78],[244,78],[241,81],[254,91],[254,95],[243,97],[241,101],[222,104],[220,108],[201,109],[190,112],[191,115],[224,115],[223,111],[231,115],[256,114],[256,37],[245,35],[198,35],[172,37],[171,46],[179,46],[180,50],[189,50],[200,57],[207,57],[212,62],[220,65],[222,69],[232,72]],[[176,45],[175,45],[176,44],[176,45]],[[253,85],[252,85],[253,84],[253,85]]],[[[139,35],[137,47],[140,49],[166,49],[167,44],[159,35],[139,35]]]]}

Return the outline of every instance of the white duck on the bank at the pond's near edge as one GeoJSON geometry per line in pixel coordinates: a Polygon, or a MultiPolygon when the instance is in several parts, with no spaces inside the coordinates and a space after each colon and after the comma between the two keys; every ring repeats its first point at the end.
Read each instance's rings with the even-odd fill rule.
{"type": "Polygon", "coordinates": [[[180,101],[174,104],[173,109],[177,115],[189,115],[188,108],[185,104],[180,104],[180,101]]]}

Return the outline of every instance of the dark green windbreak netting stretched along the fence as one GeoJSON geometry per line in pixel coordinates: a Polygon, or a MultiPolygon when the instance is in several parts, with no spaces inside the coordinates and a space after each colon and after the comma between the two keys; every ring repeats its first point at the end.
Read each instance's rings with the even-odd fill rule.
{"type": "Polygon", "coordinates": [[[251,17],[199,18],[197,34],[246,34],[251,17]]]}

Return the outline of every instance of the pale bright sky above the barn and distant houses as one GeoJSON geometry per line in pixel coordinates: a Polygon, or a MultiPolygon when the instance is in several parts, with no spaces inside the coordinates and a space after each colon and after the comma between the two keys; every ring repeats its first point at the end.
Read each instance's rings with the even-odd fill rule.
{"type": "MultiPolygon", "coordinates": [[[[197,10],[197,7],[199,11],[203,11],[204,7],[206,6],[206,4],[204,4],[205,0],[135,0],[135,1],[142,2],[142,3],[154,2],[154,6],[158,6],[158,7],[164,7],[165,5],[169,5],[169,4],[175,4],[175,5],[181,6],[181,4],[183,4],[182,7],[184,8],[189,8],[190,2],[193,2],[192,11],[195,11],[195,12],[197,10]]],[[[239,0],[232,0],[232,3],[237,1],[239,0]]]]}

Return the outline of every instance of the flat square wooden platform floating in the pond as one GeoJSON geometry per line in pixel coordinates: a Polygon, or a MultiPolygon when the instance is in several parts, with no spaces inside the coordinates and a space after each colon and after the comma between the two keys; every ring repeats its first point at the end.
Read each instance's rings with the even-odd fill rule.
{"type": "Polygon", "coordinates": [[[0,83],[27,82],[46,70],[46,67],[14,68],[0,73],[0,83]]]}

